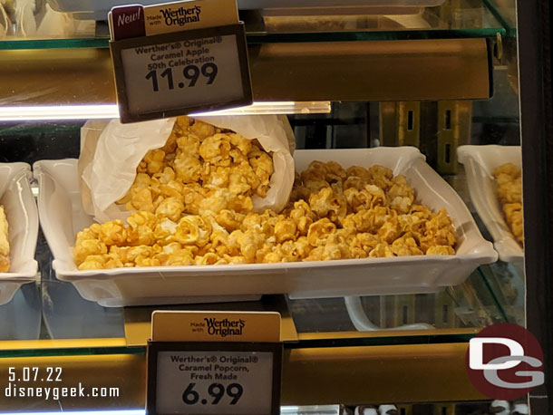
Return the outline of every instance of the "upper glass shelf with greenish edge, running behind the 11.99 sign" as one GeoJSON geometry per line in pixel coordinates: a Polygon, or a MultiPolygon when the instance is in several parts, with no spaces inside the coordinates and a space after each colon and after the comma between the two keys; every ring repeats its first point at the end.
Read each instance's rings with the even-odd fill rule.
{"type": "MultiPolygon", "coordinates": [[[[247,43],[304,43],[346,41],[390,41],[414,39],[482,38],[512,34],[509,13],[492,0],[447,0],[439,7],[416,10],[414,14],[372,14],[371,8],[354,8],[352,15],[341,9],[325,8],[324,14],[297,15],[294,9],[246,11],[247,43]],[[292,10],[292,12],[290,12],[292,10]],[[296,13],[296,14],[294,14],[296,13]]],[[[313,9],[311,9],[313,10],[313,9]]],[[[387,13],[390,13],[388,11],[387,13]]],[[[84,29],[66,38],[7,35],[0,50],[108,48],[105,22],[82,24],[84,29]]]]}

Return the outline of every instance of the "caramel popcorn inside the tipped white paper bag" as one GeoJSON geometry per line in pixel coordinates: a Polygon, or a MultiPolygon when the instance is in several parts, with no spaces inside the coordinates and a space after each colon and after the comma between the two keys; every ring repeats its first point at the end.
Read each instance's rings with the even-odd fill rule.
{"type": "Polygon", "coordinates": [[[127,194],[127,210],[178,221],[207,210],[252,210],[251,197],[265,198],[273,159],[257,140],[179,117],[165,146],[150,150],[127,194]]]}

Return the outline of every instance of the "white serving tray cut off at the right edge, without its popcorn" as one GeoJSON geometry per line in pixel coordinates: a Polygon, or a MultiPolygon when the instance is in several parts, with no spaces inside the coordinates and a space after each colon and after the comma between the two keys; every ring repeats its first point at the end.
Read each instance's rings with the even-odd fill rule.
{"type": "Polygon", "coordinates": [[[493,237],[493,246],[501,261],[520,263],[524,250],[509,230],[503,216],[492,171],[502,164],[513,163],[521,169],[519,146],[461,146],[457,159],[464,165],[474,208],[493,237]]]}

